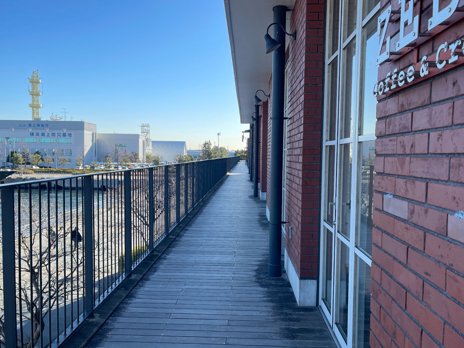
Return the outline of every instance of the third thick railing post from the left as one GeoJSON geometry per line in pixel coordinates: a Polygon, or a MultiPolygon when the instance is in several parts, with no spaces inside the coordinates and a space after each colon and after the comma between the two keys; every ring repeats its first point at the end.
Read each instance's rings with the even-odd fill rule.
{"type": "Polygon", "coordinates": [[[131,199],[131,171],[124,172],[124,274],[130,276],[132,272],[132,199],[131,199]]]}

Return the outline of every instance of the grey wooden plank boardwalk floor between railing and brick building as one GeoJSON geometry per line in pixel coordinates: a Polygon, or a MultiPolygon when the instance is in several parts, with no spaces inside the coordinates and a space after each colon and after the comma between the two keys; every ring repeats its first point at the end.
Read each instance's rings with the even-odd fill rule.
{"type": "Polygon", "coordinates": [[[267,276],[265,202],[239,162],[87,344],[111,347],[335,348],[287,275],[267,276]]]}

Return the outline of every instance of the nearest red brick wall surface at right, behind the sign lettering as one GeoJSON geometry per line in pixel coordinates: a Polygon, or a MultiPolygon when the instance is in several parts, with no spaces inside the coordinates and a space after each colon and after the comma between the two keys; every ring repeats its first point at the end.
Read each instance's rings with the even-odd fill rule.
{"type": "MultiPolygon", "coordinates": [[[[461,20],[419,56],[463,33],[461,20]]],[[[372,347],[464,347],[463,115],[464,65],[377,104],[372,347]]]]}

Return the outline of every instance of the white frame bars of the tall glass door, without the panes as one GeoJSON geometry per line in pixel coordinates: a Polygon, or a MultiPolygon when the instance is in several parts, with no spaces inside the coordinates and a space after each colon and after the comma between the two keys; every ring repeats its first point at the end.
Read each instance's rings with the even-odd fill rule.
{"type": "MultiPolygon", "coordinates": [[[[351,113],[352,113],[352,122],[353,122],[353,136],[350,136],[349,138],[341,138],[340,135],[340,122],[342,121],[342,106],[343,106],[343,97],[344,97],[344,90],[343,90],[343,85],[344,81],[341,78],[342,75],[344,75],[344,54],[345,54],[345,47],[348,45],[348,43],[351,42],[353,38],[355,39],[355,56],[354,56],[354,71],[353,71],[353,78],[356,78],[358,76],[362,75],[361,70],[361,63],[362,63],[362,55],[363,55],[363,47],[364,45],[363,42],[363,28],[364,26],[367,25],[368,21],[372,19],[380,10],[380,3],[377,4],[374,9],[367,14],[366,18],[363,20],[363,1],[358,0],[357,1],[357,25],[356,29],[348,36],[346,40],[343,40],[343,30],[344,30],[344,11],[347,6],[347,2],[345,0],[340,0],[340,8],[339,8],[339,36],[338,36],[338,47],[336,51],[329,57],[329,46],[326,47],[326,52],[325,52],[325,64],[324,64],[324,106],[323,106],[323,129],[324,129],[324,134],[323,134],[323,139],[322,139],[322,175],[321,175],[321,230],[320,230],[320,236],[321,236],[321,252],[320,254],[320,270],[319,270],[319,277],[321,281],[319,282],[319,298],[318,298],[318,303],[320,305],[320,308],[322,309],[322,313],[324,316],[326,316],[327,320],[329,321],[330,326],[332,327],[335,337],[337,338],[337,341],[339,342],[340,346],[342,348],[348,348],[348,347],[353,347],[355,342],[355,335],[356,335],[356,328],[355,328],[355,308],[356,308],[356,303],[355,303],[355,297],[356,297],[356,279],[357,279],[357,267],[355,264],[355,256],[358,256],[361,258],[367,265],[371,266],[372,259],[367,256],[361,249],[358,249],[356,246],[357,243],[357,233],[358,233],[358,228],[357,228],[357,206],[358,206],[358,201],[359,201],[359,195],[358,195],[358,184],[359,184],[359,178],[358,178],[358,167],[359,167],[359,159],[358,159],[358,147],[363,141],[371,141],[375,140],[375,135],[374,134],[369,134],[369,135],[358,135],[359,134],[359,119],[360,119],[360,113],[362,110],[359,110],[360,103],[357,103],[357,101],[360,101],[360,83],[357,83],[354,90],[352,90],[351,94],[351,100],[356,101],[354,105],[351,106],[351,113]],[[360,25],[361,24],[361,25],[360,25]],[[334,59],[337,59],[337,112],[336,112],[336,140],[335,141],[326,141],[326,129],[328,126],[328,112],[329,112],[329,64],[334,61],[334,59]],[[349,233],[349,240],[345,236],[343,236],[339,232],[339,211],[340,211],[340,194],[339,194],[339,189],[340,189],[340,184],[341,184],[341,168],[342,164],[340,162],[340,155],[341,155],[341,146],[343,144],[348,144],[352,143],[352,174],[351,174],[351,210],[350,210],[350,233],[349,233]],[[325,195],[326,195],[326,186],[327,186],[327,179],[326,179],[326,173],[325,173],[325,168],[326,168],[326,147],[329,145],[335,145],[335,223],[333,226],[330,226],[328,223],[324,221],[324,209],[325,209],[325,195]],[[325,266],[324,266],[324,259],[325,259],[325,235],[324,235],[324,227],[332,232],[332,270],[331,270],[331,303],[330,303],[330,310],[327,308],[327,306],[324,303],[324,300],[322,300],[323,295],[323,290],[324,290],[324,283],[325,283],[325,266]],[[340,248],[339,245],[340,243],[344,243],[347,245],[349,249],[349,284],[348,284],[348,332],[347,332],[347,342],[345,342],[342,334],[342,332],[339,330],[339,328],[336,325],[336,311],[337,311],[337,305],[336,301],[338,301],[338,289],[337,286],[339,282],[336,280],[338,279],[339,276],[339,271],[338,271],[338,264],[339,264],[339,252],[340,248]]],[[[329,25],[327,26],[327,32],[326,35],[330,35],[330,30],[332,28],[331,24],[331,7],[332,7],[333,1],[329,1],[327,4],[327,23],[329,25]]],[[[362,78],[361,80],[362,81],[362,78]]],[[[331,93],[334,91],[332,90],[331,93]]],[[[359,193],[360,194],[360,193],[359,193]]]]}

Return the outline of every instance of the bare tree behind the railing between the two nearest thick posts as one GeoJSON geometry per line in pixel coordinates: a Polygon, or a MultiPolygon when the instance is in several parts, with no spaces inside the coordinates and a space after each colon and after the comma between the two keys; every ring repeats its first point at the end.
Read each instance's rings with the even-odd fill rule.
{"type": "MultiPolygon", "coordinates": [[[[16,231],[15,269],[18,320],[22,320],[19,332],[23,335],[22,345],[18,340],[17,346],[32,348],[49,325],[46,318],[54,309],[63,309],[72,289],[83,288],[82,277],[77,277],[83,271],[83,252],[72,252],[77,250],[82,237],[77,238],[81,226],[74,225],[71,230],[69,223],[64,226],[63,220],[48,225],[45,209],[39,213],[38,206],[30,205],[28,200],[21,201],[20,209],[23,228],[16,231]],[[27,330],[27,335],[23,330],[27,330]]],[[[5,347],[3,299],[0,311],[0,346],[5,347]]]]}

